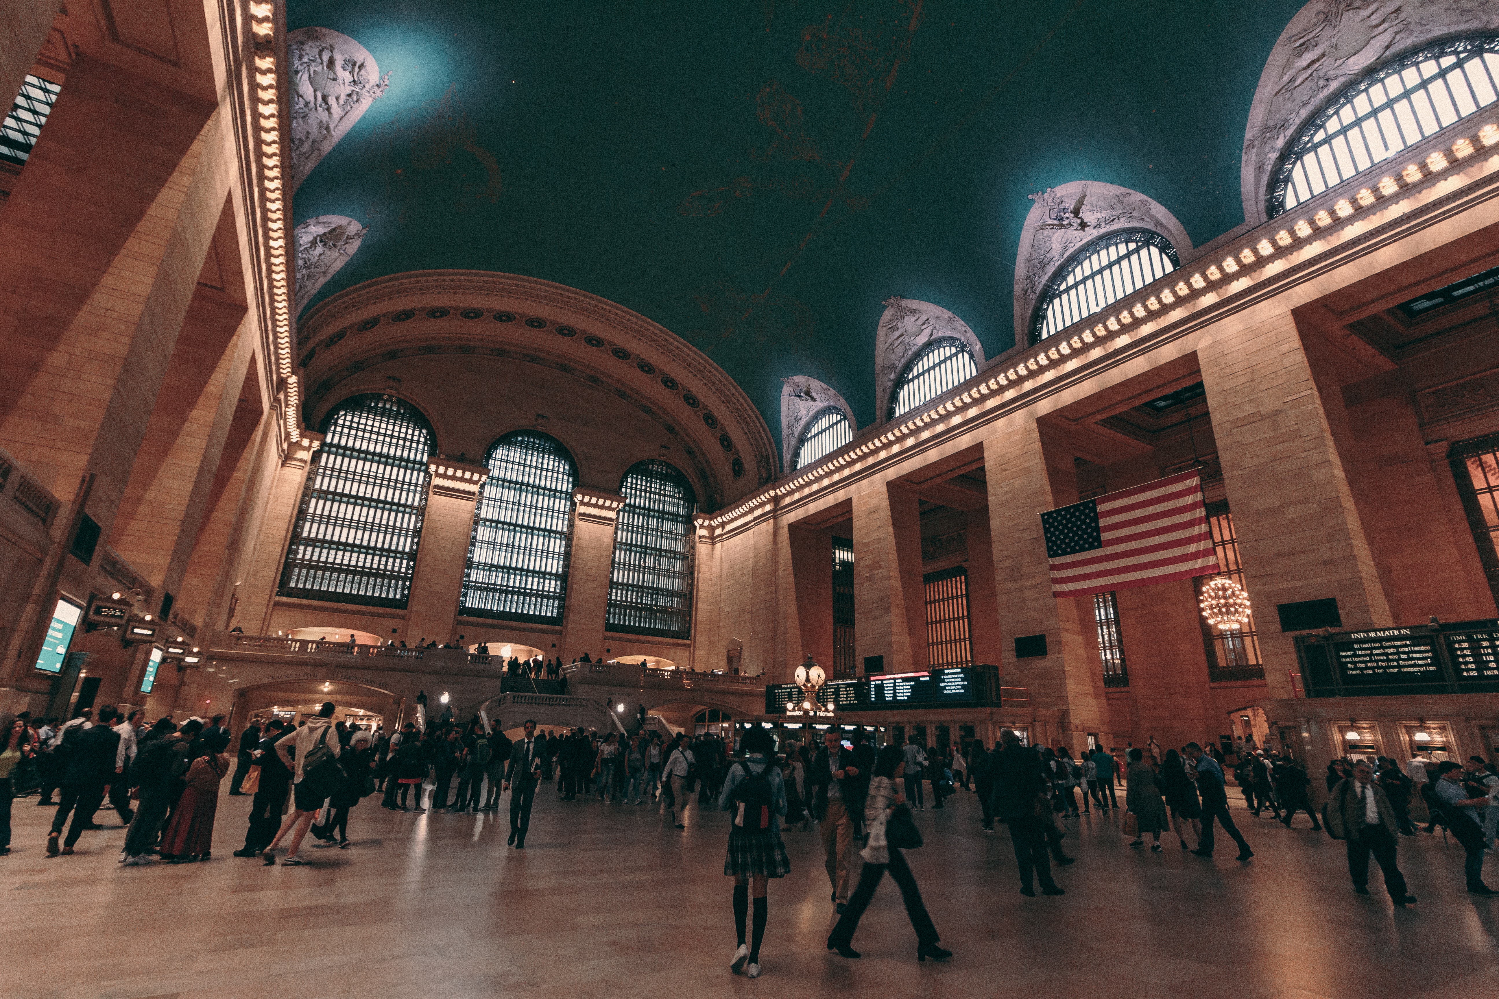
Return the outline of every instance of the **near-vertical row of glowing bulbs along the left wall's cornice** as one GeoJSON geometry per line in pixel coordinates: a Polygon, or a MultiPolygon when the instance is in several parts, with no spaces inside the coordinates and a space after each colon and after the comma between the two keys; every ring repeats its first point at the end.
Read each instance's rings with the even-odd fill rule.
{"type": "Polygon", "coordinates": [[[286,261],[286,205],[282,196],[280,72],[270,42],[276,37],[276,7],[268,0],[250,0],[250,33],[255,36],[255,121],[261,139],[261,189],[265,205],[265,246],[271,279],[271,330],[276,341],[276,373],[286,379],[286,434],[300,440],[300,389],[292,374],[291,270],[286,261]]]}

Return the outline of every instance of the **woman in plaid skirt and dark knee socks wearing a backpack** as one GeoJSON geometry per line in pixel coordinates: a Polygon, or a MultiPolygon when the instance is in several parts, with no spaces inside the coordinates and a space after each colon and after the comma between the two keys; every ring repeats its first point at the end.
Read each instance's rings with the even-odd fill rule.
{"type": "Polygon", "coordinates": [[[745,758],[729,768],[718,807],[733,809],[729,827],[729,852],[724,873],[735,879],[735,929],[739,950],[729,971],[739,974],[748,962],[751,978],[760,977],[760,941],[764,938],[766,884],[784,878],[791,870],[781,842],[781,816],[785,815],[785,782],[781,770],[770,765],[775,741],[763,728],[751,728],[741,741],[745,758]],[[761,783],[763,782],[763,783],[761,783]],[[741,786],[742,785],[742,786],[741,786]],[[754,887],[754,935],[745,947],[745,917],[750,914],[750,888],[754,887]]]}

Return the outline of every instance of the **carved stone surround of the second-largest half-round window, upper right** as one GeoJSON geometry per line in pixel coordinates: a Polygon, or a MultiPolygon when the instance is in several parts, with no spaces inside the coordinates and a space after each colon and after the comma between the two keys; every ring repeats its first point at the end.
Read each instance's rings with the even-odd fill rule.
{"type": "Polygon", "coordinates": [[[1030,195],[1036,204],[1021,226],[1015,258],[1015,343],[1030,341],[1031,316],[1046,282],[1084,246],[1121,229],[1165,237],[1186,262],[1192,240],[1165,205],[1138,190],[1075,180],[1030,195]]]}

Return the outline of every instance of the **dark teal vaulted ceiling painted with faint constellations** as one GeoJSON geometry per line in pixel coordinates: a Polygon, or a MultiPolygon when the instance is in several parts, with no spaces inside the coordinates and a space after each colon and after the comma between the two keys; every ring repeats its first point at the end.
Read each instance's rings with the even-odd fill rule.
{"type": "MultiPolygon", "coordinates": [[[[370,228],[318,300],[427,268],[601,295],[717,361],[779,439],[781,379],[874,421],[889,295],[1010,347],[1028,193],[1139,190],[1193,244],[1301,0],[289,0],[390,88],[303,183],[370,228]]],[[[315,300],[315,301],[318,301],[315,300]]]]}

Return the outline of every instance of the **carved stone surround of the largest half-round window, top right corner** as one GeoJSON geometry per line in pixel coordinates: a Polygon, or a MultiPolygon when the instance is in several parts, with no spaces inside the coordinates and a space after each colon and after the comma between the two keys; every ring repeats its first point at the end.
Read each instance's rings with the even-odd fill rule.
{"type": "Polygon", "coordinates": [[[1244,129],[1244,222],[1268,219],[1265,198],[1280,154],[1324,105],[1375,67],[1459,34],[1499,28],[1484,0],[1312,0],[1265,60],[1244,129]]]}

